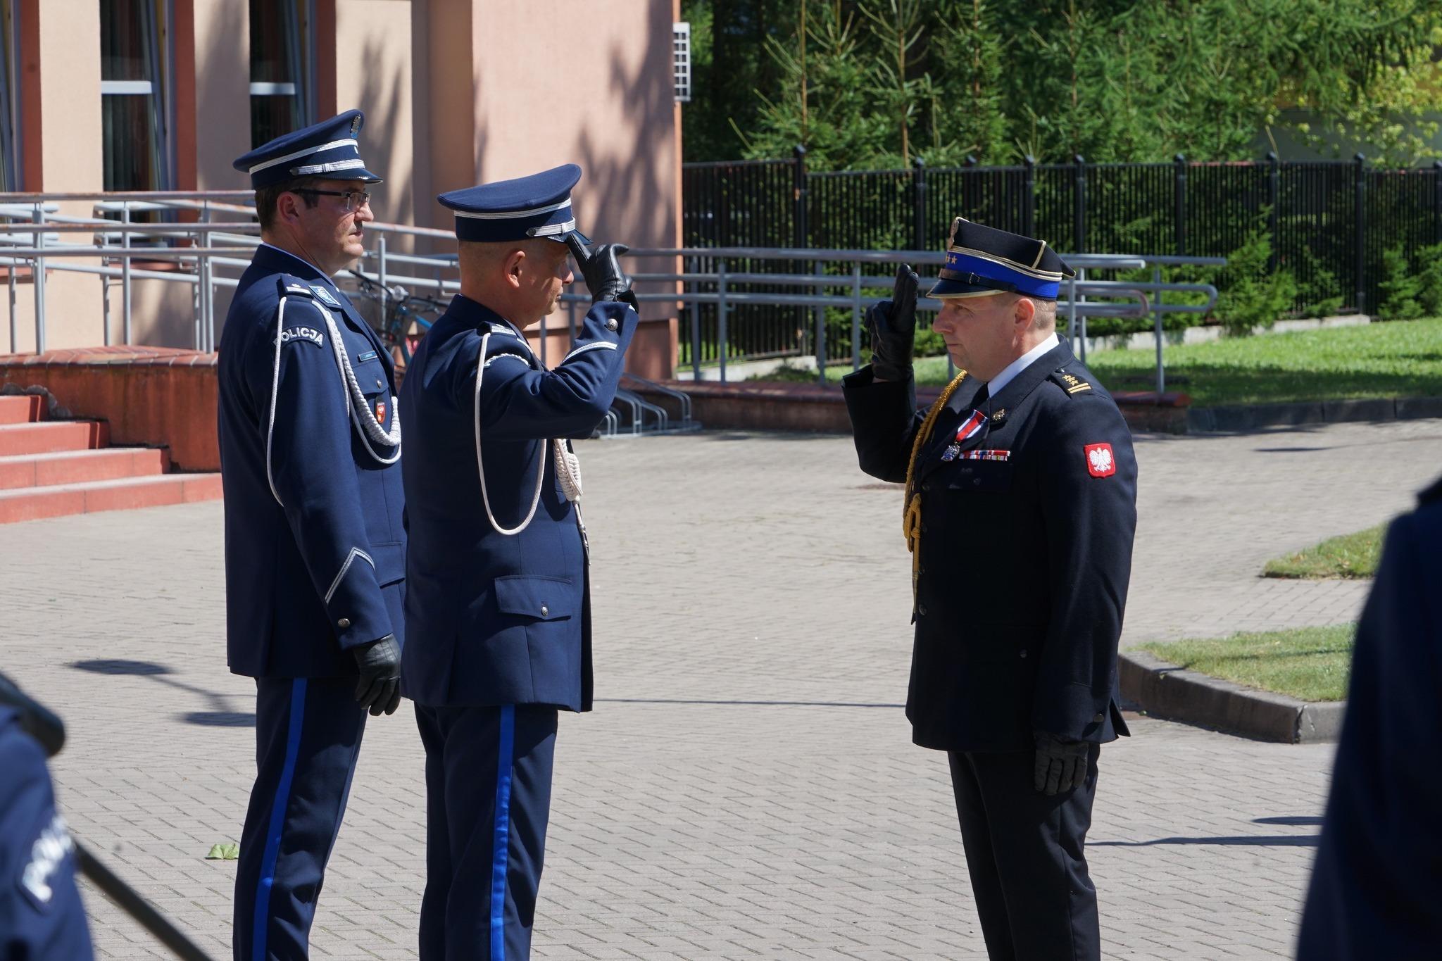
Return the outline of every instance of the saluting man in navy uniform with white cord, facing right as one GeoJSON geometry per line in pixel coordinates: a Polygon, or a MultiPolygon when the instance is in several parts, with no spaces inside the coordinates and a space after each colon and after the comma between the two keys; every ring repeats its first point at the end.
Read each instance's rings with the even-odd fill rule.
{"type": "Polygon", "coordinates": [[[460,294],[402,388],[408,595],[401,689],[425,745],[421,961],[529,957],[558,710],[591,709],[585,438],[616,396],[636,300],[575,232],[565,164],[440,196],[456,212],[460,294]],[[571,282],[593,304],[547,370],[525,330],[571,282]]]}

